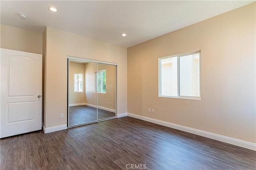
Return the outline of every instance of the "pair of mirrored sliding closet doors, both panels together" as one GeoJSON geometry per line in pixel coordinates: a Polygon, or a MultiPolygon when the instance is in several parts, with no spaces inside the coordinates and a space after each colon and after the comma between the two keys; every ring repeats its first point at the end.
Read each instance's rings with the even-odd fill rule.
{"type": "Polygon", "coordinates": [[[68,127],[116,117],[116,64],[68,57],[68,127]]]}

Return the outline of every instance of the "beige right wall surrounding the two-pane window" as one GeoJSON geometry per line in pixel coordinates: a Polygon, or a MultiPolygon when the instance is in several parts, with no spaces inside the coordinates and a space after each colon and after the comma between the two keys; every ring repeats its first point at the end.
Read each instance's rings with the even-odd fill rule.
{"type": "Polygon", "coordinates": [[[128,112],[256,143],[255,5],[128,48],[128,112]],[[158,97],[158,58],[198,50],[202,100],[158,97]]]}

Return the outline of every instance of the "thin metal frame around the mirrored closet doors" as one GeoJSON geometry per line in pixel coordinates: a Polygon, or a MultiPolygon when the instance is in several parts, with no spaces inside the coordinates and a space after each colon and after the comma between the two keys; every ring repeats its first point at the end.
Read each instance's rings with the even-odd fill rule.
{"type": "MultiPolygon", "coordinates": [[[[117,81],[116,81],[116,76],[117,76],[117,63],[111,63],[111,62],[106,62],[106,61],[98,61],[98,60],[92,60],[92,59],[85,59],[85,58],[79,58],[79,57],[72,57],[72,56],[67,56],[67,85],[69,84],[69,63],[70,63],[70,60],[78,60],[78,61],[86,61],[86,62],[94,62],[94,63],[97,63],[97,71],[98,71],[98,63],[100,64],[109,64],[109,65],[114,65],[115,66],[115,70],[116,70],[116,75],[115,75],[115,110],[117,108],[117,104],[116,104],[116,84],[117,84],[117,81]]],[[[98,83],[98,81],[96,81],[98,83]]],[[[67,86],[67,96],[68,96],[68,100],[67,100],[67,127],[70,128],[70,127],[76,127],[76,126],[81,126],[81,125],[86,125],[86,124],[90,124],[90,123],[95,123],[95,122],[100,122],[100,121],[104,121],[104,120],[109,120],[109,119],[115,119],[116,118],[116,111],[115,111],[115,116],[114,117],[109,117],[109,118],[106,118],[106,119],[100,119],[98,120],[98,90],[97,90],[97,120],[96,121],[92,121],[92,122],[87,122],[87,123],[83,123],[83,124],[80,124],[80,125],[71,125],[69,126],[69,87],[67,86]]]]}

